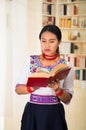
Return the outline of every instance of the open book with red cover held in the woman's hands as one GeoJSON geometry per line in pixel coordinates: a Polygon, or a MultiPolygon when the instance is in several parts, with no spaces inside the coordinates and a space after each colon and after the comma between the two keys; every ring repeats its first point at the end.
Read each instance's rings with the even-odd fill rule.
{"type": "Polygon", "coordinates": [[[37,72],[32,73],[27,80],[27,86],[46,87],[52,80],[62,80],[66,78],[70,71],[70,66],[67,64],[58,64],[52,71],[45,68],[38,68],[37,72]]]}

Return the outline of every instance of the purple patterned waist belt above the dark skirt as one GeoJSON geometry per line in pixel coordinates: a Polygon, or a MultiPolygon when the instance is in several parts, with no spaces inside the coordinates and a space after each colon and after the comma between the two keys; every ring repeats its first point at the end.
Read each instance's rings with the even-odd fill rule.
{"type": "Polygon", "coordinates": [[[58,104],[60,100],[54,95],[30,95],[30,102],[35,104],[58,104]]]}

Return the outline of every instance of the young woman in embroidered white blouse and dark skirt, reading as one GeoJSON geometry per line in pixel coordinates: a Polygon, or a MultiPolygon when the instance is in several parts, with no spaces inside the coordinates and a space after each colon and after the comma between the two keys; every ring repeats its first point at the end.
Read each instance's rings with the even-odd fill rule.
{"type": "Polygon", "coordinates": [[[65,79],[53,80],[46,87],[27,86],[28,77],[38,68],[51,71],[60,63],[69,65],[59,54],[61,37],[57,26],[43,27],[39,34],[42,54],[29,56],[25,63],[15,89],[17,94],[29,96],[22,115],[21,130],[68,130],[63,103],[68,104],[73,96],[73,68],[65,79]]]}

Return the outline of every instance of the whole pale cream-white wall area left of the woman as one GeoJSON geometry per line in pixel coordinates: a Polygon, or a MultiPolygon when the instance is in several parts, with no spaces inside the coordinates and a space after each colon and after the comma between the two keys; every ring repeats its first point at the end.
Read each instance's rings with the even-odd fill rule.
{"type": "Polygon", "coordinates": [[[41,0],[0,1],[0,130],[20,129],[28,96],[15,93],[15,82],[27,55],[40,53],[41,4],[41,0]]]}

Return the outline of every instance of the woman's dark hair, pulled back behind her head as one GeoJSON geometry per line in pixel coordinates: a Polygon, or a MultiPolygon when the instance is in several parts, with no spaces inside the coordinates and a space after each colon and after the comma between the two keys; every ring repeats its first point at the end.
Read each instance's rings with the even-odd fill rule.
{"type": "MultiPolygon", "coordinates": [[[[46,26],[44,26],[42,28],[40,34],[39,34],[39,39],[41,39],[42,33],[46,32],[46,31],[55,34],[57,39],[58,39],[58,41],[61,41],[62,34],[61,34],[61,30],[60,30],[60,28],[58,26],[56,26],[56,25],[46,25],[46,26]]],[[[57,52],[57,54],[60,54],[59,47],[57,48],[56,52],[57,52]]]]}

